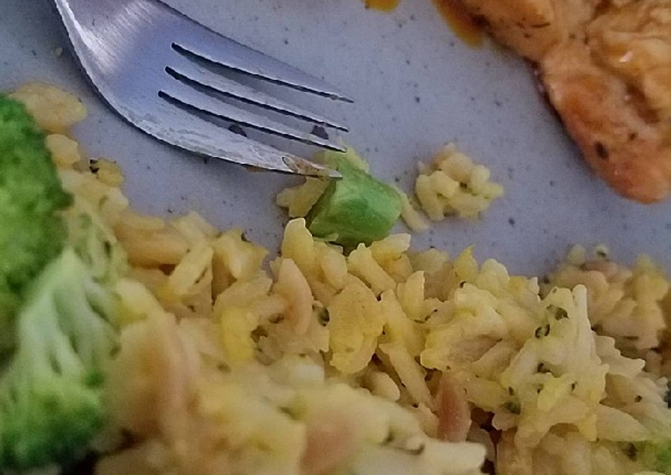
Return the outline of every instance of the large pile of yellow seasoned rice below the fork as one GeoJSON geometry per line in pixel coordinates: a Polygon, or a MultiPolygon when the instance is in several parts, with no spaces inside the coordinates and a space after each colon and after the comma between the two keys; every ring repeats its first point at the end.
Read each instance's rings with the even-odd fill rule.
{"type": "MultiPolygon", "coordinates": [[[[38,120],[79,107],[31,87],[38,120]]],[[[408,234],[344,255],[297,218],[264,266],[241,230],[140,216],[118,167],[49,143],[132,265],[97,473],[668,470],[668,281],[649,260],[578,249],[539,285],[470,248],[411,251],[408,234]]]]}

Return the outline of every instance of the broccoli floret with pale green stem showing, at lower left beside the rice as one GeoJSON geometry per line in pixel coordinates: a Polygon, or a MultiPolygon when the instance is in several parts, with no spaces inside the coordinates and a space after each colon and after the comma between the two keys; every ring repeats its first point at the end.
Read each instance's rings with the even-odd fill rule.
{"type": "Polygon", "coordinates": [[[115,297],[71,248],[25,291],[0,378],[0,472],[66,464],[105,423],[115,297]]]}

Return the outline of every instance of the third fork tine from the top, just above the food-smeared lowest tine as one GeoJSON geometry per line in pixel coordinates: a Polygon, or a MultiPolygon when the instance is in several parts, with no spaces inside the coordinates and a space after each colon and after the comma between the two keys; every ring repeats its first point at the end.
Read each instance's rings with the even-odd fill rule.
{"type": "Polygon", "coordinates": [[[324,147],[335,151],[346,151],[342,145],[338,145],[338,143],[331,140],[322,139],[316,135],[268,119],[268,117],[250,113],[244,109],[240,109],[240,107],[227,104],[179,80],[170,80],[170,82],[162,84],[160,92],[184,105],[194,107],[199,111],[227,119],[231,122],[240,123],[241,125],[253,127],[266,133],[280,135],[288,139],[317,145],[317,147],[324,147]]]}

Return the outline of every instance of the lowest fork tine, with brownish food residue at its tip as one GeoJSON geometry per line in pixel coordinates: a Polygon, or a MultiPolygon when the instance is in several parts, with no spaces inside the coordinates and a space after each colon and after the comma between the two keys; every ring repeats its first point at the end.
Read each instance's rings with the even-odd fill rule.
{"type": "Polygon", "coordinates": [[[165,141],[189,151],[277,172],[341,178],[333,169],[291,155],[219,127],[201,117],[170,107],[161,111],[162,123],[146,124],[145,130],[165,141]]]}

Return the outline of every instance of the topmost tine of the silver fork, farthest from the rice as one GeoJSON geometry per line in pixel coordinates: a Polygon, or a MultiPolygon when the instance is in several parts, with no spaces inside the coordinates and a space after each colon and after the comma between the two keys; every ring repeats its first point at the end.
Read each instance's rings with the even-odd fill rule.
{"type": "Polygon", "coordinates": [[[353,102],[352,99],[325,80],[307,74],[307,72],[253,50],[230,38],[221,36],[181,13],[176,11],[175,13],[186,19],[185,23],[188,25],[188,29],[180,28],[183,30],[180,31],[180,38],[173,41],[173,47],[176,47],[176,50],[183,50],[183,52],[194,54],[228,68],[291,88],[344,100],[348,103],[353,102]]]}

